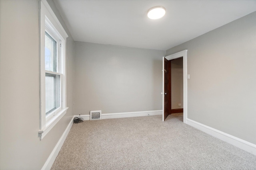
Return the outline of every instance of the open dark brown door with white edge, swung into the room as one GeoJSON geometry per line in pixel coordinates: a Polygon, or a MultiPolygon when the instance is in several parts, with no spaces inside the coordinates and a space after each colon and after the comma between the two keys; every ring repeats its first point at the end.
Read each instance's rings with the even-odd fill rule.
{"type": "Polygon", "coordinates": [[[163,121],[169,115],[169,103],[168,103],[168,60],[163,57],[163,121]]]}

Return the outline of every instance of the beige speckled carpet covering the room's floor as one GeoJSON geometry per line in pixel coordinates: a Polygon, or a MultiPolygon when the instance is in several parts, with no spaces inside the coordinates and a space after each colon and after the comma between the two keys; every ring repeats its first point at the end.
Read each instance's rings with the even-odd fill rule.
{"type": "Polygon", "coordinates": [[[74,124],[52,170],[256,170],[256,156],[182,122],[183,115],[74,124]]]}

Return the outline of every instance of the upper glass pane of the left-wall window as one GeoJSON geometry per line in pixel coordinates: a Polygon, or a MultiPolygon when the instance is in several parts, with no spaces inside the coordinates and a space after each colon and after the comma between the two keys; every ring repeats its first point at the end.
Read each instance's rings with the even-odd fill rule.
{"type": "Polygon", "coordinates": [[[57,43],[45,32],[45,70],[57,72],[57,43]]]}

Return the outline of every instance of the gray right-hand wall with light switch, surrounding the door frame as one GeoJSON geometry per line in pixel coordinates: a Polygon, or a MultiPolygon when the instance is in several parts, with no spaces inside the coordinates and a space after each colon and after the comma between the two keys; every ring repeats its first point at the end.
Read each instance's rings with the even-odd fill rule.
{"type": "Polygon", "coordinates": [[[256,144],[256,12],[166,51],[188,49],[188,118],[256,144]]]}

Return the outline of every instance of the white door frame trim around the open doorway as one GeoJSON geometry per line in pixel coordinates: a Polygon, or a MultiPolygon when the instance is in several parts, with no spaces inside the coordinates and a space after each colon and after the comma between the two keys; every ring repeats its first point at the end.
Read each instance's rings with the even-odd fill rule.
{"type": "Polygon", "coordinates": [[[187,117],[188,117],[187,51],[188,50],[183,50],[178,53],[174,53],[172,55],[163,57],[163,90],[162,90],[163,121],[164,121],[164,58],[166,58],[169,61],[169,60],[183,57],[183,122],[187,123],[187,117]]]}

